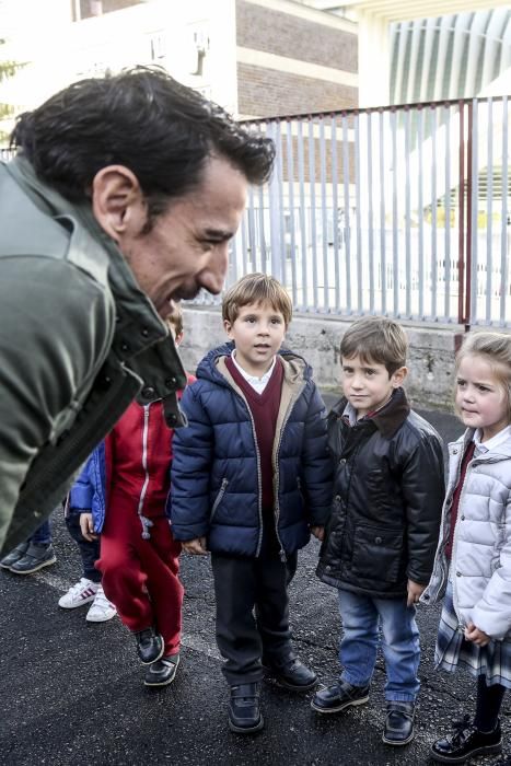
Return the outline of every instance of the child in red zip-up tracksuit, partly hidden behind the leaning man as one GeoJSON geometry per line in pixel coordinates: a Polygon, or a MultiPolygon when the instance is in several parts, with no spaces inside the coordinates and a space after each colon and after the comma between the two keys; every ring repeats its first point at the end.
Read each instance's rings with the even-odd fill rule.
{"type": "MultiPolygon", "coordinates": [[[[181,311],[171,330],[183,336],[181,311]]],[[[188,382],[195,379],[188,376],[188,382]]],[[[96,568],[121,622],[133,632],[137,652],[148,665],[146,686],[164,686],[179,662],[183,585],[181,544],[175,542],[165,506],[170,489],[172,430],[162,402],[133,402],[100,444],[71,490],[86,539],[101,532],[96,568]]]]}

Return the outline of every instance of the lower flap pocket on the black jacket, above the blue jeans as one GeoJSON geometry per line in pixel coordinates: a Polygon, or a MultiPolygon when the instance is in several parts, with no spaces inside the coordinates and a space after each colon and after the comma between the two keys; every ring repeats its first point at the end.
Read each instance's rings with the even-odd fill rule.
{"type": "Polygon", "coordinates": [[[370,580],[397,582],[403,558],[403,530],[357,526],[353,535],[352,571],[370,580]]]}

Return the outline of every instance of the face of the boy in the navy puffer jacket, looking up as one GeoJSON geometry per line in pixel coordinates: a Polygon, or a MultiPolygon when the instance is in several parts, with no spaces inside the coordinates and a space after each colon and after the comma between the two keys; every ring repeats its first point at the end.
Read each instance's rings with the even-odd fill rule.
{"type": "Polygon", "coordinates": [[[240,309],[235,321],[228,320],[225,333],[236,346],[236,361],[248,374],[262,378],[286,336],[282,314],[269,303],[248,303],[240,309]]]}

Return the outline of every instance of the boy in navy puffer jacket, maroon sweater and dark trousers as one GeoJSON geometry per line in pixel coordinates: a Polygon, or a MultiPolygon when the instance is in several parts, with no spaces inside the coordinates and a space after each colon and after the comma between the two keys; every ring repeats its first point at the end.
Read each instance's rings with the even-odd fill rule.
{"type": "Polygon", "coordinates": [[[264,668],[294,692],[317,681],[291,646],[287,587],[298,549],[311,532],[323,537],[332,469],[311,368],[279,351],[292,316],[284,288],[247,275],[222,316],[234,344],[206,356],[182,399],[188,428],[174,436],[171,517],[188,553],[211,552],[229,724],[251,733],[263,728],[264,668]]]}

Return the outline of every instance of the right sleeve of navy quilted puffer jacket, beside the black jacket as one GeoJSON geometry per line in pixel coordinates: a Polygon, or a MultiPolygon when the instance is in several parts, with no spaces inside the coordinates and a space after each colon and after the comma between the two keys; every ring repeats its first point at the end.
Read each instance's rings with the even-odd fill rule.
{"type": "Polygon", "coordinates": [[[314,383],[303,442],[303,475],[311,526],[324,526],[332,507],[332,456],[327,445],[326,408],[314,383]]]}

